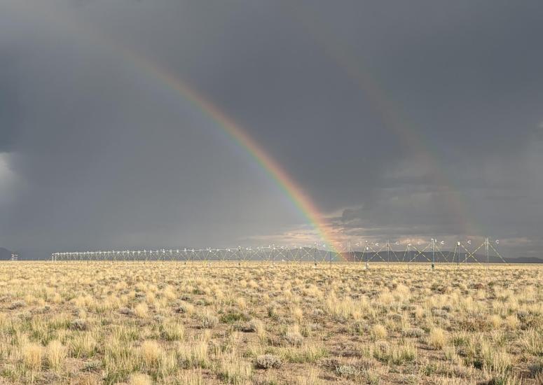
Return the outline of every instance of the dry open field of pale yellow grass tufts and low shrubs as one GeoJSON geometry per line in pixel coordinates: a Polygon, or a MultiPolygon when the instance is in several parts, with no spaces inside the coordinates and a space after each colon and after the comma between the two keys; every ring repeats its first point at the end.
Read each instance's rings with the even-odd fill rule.
{"type": "Polygon", "coordinates": [[[0,384],[541,384],[543,266],[1,262],[0,384]]]}

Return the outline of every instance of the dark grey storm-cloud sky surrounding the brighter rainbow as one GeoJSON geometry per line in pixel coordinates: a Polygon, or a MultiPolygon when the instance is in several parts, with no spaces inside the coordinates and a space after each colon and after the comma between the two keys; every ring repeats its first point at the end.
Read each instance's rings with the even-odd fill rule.
{"type": "Polygon", "coordinates": [[[314,230],[543,251],[541,1],[0,0],[0,246],[235,246],[314,230]],[[130,52],[127,55],[126,52],[130,52]]]}

